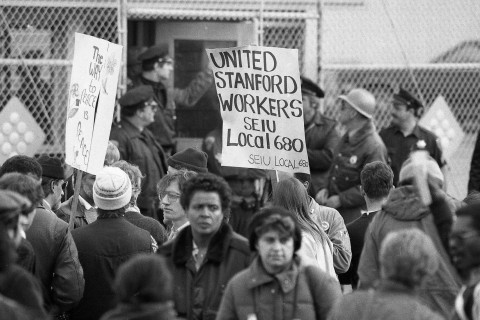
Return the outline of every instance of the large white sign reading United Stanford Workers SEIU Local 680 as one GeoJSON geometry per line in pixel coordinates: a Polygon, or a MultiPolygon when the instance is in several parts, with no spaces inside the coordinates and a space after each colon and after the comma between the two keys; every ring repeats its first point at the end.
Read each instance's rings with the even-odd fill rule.
{"type": "Polygon", "coordinates": [[[309,173],[296,49],[207,49],[223,119],[222,165],[309,173]]]}

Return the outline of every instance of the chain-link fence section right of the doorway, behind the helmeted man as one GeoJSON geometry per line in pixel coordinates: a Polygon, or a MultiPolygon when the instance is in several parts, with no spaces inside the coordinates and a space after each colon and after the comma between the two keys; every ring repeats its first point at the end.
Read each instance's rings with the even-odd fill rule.
{"type": "Polygon", "coordinates": [[[338,95],[363,87],[377,99],[381,129],[390,123],[392,95],[400,86],[426,109],[442,95],[465,133],[445,170],[447,191],[460,199],[479,129],[479,18],[480,3],[468,0],[331,0],[322,10],[327,114],[336,116],[338,95]]]}

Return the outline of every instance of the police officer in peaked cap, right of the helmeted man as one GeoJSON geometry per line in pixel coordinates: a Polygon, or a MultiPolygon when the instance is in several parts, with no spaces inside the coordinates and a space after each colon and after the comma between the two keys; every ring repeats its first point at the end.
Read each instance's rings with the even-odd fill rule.
{"type": "Polygon", "coordinates": [[[380,137],[388,150],[394,185],[397,185],[402,164],[411,151],[419,149],[428,151],[441,168],[445,162],[437,136],[418,125],[418,119],[423,112],[422,103],[411,93],[400,88],[398,93],[393,95],[391,110],[391,125],[380,131],[380,137]]]}

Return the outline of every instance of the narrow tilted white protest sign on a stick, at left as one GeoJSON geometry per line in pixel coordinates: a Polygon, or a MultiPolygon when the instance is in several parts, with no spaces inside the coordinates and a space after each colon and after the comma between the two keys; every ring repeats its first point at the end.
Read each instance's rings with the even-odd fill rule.
{"type": "Polygon", "coordinates": [[[75,33],[65,162],[91,174],[103,168],[107,152],[122,48],[103,39],[75,33]]]}

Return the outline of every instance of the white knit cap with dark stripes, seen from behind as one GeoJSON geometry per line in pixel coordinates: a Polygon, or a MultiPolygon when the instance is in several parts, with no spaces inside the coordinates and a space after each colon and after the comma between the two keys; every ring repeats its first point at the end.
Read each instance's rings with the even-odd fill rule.
{"type": "Polygon", "coordinates": [[[93,184],[93,201],[103,210],[125,207],[132,198],[132,184],[127,174],[117,167],[105,167],[93,184]]]}

